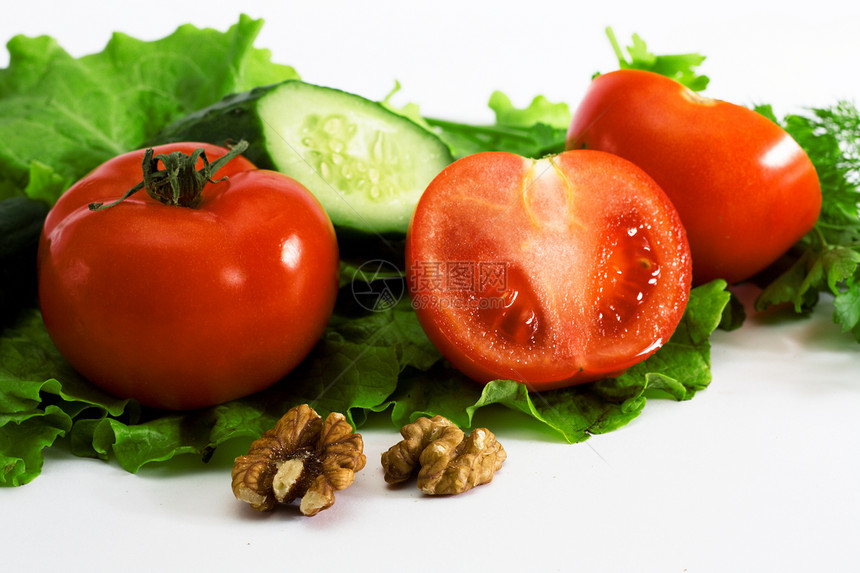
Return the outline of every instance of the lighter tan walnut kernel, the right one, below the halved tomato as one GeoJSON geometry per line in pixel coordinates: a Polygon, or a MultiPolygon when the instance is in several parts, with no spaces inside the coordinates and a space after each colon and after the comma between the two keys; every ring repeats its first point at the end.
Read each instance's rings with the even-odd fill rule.
{"type": "Polygon", "coordinates": [[[400,433],[404,439],[382,454],[385,481],[406,481],[420,467],[418,489],[430,495],[463,493],[489,483],[507,458],[486,428],[467,437],[442,416],[418,418],[400,433]]]}

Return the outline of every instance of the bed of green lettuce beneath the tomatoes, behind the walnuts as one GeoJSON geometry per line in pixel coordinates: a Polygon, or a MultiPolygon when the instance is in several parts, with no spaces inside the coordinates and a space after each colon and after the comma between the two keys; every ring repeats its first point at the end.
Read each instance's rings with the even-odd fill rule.
{"type": "MultiPolygon", "coordinates": [[[[349,306],[348,289],[340,307],[349,306]]],[[[400,425],[442,415],[468,427],[475,412],[500,404],[552,428],[568,442],[619,428],[646,395],[687,400],[710,382],[709,336],[729,300],[725,283],[694,289],[681,325],[651,358],[615,379],[532,393],[510,380],[481,387],[452,370],[424,335],[408,301],[384,312],[343,308],[301,366],[272,388],[193,412],[141,409],[82,379],[51,344],[37,311],[0,338],[0,485],[36,477],[42,450],[68,436],[79,456],[110,456],[130,472],[178,454],[211,455],[234,438],[259,436],[283,412],[307,403],[345,412],[361,426],[391,411],[400,425]],[[647,392],[646,392],[647,391],[647,392]]]]}

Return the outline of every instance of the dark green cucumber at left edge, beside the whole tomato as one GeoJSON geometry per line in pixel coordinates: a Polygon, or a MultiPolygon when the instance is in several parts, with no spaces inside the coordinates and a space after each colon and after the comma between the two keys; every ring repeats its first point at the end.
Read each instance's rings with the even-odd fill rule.
{"type": "Polygon", "coordinates": [[[0,330],[36,306],[36,257],[48,206],[27,197],[0,201],[0,330]]]}

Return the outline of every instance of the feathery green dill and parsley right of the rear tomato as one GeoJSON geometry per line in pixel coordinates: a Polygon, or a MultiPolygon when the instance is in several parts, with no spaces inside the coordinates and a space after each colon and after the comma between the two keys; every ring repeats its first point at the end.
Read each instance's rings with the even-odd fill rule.
{"type": "Polygon", "coordinates": [[[834,322],[860,342],[860,112],[849,102],[781,121],[770,106],[756,111],[780,123],[806,150],[821,182],[822,208],[815,228],[782,261],[785,268],[766,283],[755,308],[790,303],[806,313],[820,293],[829,292],[835,296],[834,322]]]}

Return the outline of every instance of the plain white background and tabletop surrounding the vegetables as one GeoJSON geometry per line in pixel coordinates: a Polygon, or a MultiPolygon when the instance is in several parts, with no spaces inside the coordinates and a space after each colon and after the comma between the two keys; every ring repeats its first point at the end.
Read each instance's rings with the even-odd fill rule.
{"type": "MultiPolygon", "coordinates": [[[[258,47],[312,82],[437,117],[491,119],[494,89],[574,106],[615,62],[603,28],[660,53],[708,56],[708,94],[778,112],[860,95],[860,10],[790,3],[245,1],[267,21],[258,47]],[[600,4],[600,8],[592,4],[600,4]]],[[[111,31],[155,39],[178,24],[225,29],[226,3],[43,2],[4,6],[0,39],[50,34],[74,55],[111,31]]],[[[0,66],[8,57],[0,56],[0,66]]],[[[435,499],[389,488],[383,420],[363,430],[368,467],[314,518],[259,515],[230,491],[235,447],[125,473],[46,456],[29,485],[0,490],[3,570],[857,571],[860,345],[830,323],[759,317],[713,338],[711,387],[649,401],[628,426],[567,445],[525,417],[480,412],[508,461],[492,484],[435,499]]]]}

